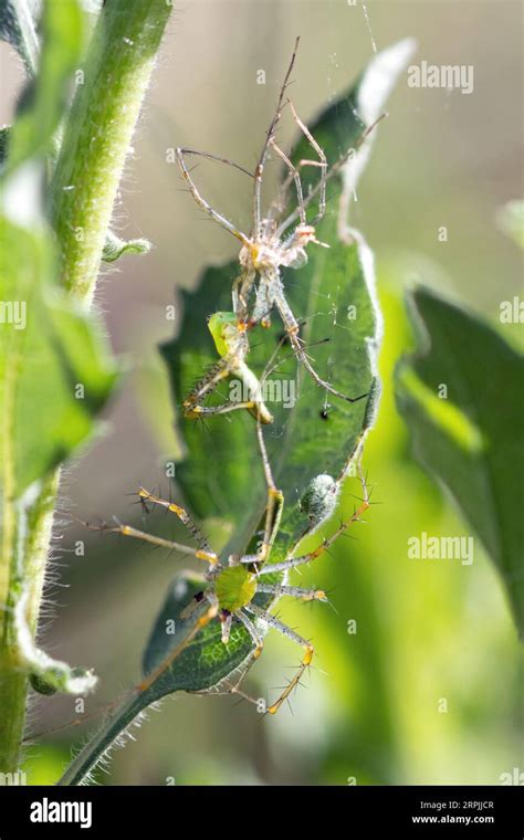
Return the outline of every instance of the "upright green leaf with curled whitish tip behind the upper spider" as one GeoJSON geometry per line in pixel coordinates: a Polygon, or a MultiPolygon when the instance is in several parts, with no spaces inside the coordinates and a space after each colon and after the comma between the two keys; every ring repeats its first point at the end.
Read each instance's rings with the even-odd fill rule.
{"type": "MultiPolygon", "coordinates": [[[[346,154],[363,127],[380,115],[411,50],[412,43],[402,41],[377,55],[357,83],[310,123],[308,127],[325,149],[329,164],[346,154]]],[[[282,395],[284,388],[291,388],[294,382],[296,399],[292,400],[293,405],[290,400],[289,405],[284,401],[270,405],[275,421],[265,428],[264,433],[276,482],[286,500],[285,544],[298,527],[300,512],[293,504],[296,494],[301,495],[319,473],[339,473],[363,433],[363,426],[370,422],[373,406],[369,400],[375,405],[377,398],[378,388],[374,381],[380,316],[376,306],[373,256],[361,235],[355,232],[354,243],[347,244],[337,233],[347,190],[353,193],[356,188],[373,141],[374,133],[349,161],[352,169],[344,171],[344,191],[340,177],[329,182],[328,210],[317,228],[317,238],[329,244],[329,249],[310,245],[307,265],[283,274],[295,316],[305,321],[302,336],[319,375],[350,396],[371,395],[373,391],[373,400],[349,405],[327,395],[326,402],[324,390],[303,370],[297,374],[289,347],[280,353],[279,370],[272,379],[282,384],[282,395]]],[[[305,140],[302,140],[293,158],[298,160],[304,156],[311,157],[311,148],[306,148],[305,140]]],[[[308,170],[303,171],[306,175],[308,170]]],[[[340,227],[344,227],[346,220],[342,221],[340,227]]],[[[161,348],[178,405],[206,367],[217,359],[206,317],[214,311],[231,308],[231,283],[238,271],[238,263],[209,269],[197,292],[181,295],[184,319],[180,333],[161,348]]],[[[253,332],[249,364],[259,376],[276,349],[281,334],[282,325],[276,314],[271,329],[253,332]]],[[[211,398],[209,405],[228,398],[228,387],[220,390],[221,393],[211,398]]],[[[211,418],[206,424],[185,419],[179,419],[179,424],[187,455],[177,469],[177,482],[199,516],[219,515],[231,522],[235,532],[231,547],[241,550],[265,503],[253,419],[238,411],[211,418]]],[[[303,517],[300,527],[303,527],[303,517]]],[[[281,549],[279,547],[279,552],[281,549]]]]}

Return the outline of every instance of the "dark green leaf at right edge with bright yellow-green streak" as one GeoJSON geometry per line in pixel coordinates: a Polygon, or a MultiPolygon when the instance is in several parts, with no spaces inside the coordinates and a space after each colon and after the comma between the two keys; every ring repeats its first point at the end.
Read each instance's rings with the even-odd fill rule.
{"type": "Polygon", "coordinates": [[[397,400],[420,463],[451,493],[497,567],[524,631],[524,359],[475,315],[417,288],[418,353],[397,368],[397,400]],[[438,389],[447,386],[447,399],[438,389]]]}

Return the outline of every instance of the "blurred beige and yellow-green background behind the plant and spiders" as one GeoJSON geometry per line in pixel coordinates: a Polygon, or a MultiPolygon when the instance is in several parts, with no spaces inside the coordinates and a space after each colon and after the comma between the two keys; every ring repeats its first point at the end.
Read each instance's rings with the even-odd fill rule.
{"type": "MultiPolygon", "coordinates": [[[[283,618],[315,643],[307,690],[295,695],[293,714],[284,707],[275,718],[230,697],[168,699],[136,743],[116,750],[105,784],[161,785],[170,777],[179,785],[499,784],[501,774],[522,767],[524,669],[494,567],[478,540],[472,566],[408,559],[410,536],[468,531],[413,461],[391,379],[411,345],[407,286],[421,281],[448,292],[495,325],[501,301],[520,291],[521,255],[495,218],[522,193],[522,6],[374,0],[366,11],[367,20],[361,3],[346,0],[190,0],[175,10],[116,209],[118,232],[145,235],[155,250],[106,269],[98,290],[129,372],[105,435],[66,471],[63,537],[45,605],[53,617],[43,637],[49,651],[101,676],[86,716],[136,680],[144,640],[180,561],[130,540],[86,538],[69,514],[140,524],[125,494],[138,484],[158,486],[178,445],[156,349],[171,335],[165,307],[205,265],[235,255],[234,242],[180,189],[166,150],[188,145],[252,166],[296,34],[293,98],[306,120],[348,85],[374,43],[382,49],[407,35],[419,44],[416,63],[472,64],[474,91],[413,90],[404,76],[354,206],[353,222],[376,253],[386,321],[384,398],[365,453],[380,504],[367,525],[355,526],[355,540],[340,540],[300,579],[331,590],[335,609],[282,605],[283,618]],[[261,69],[265,85],[256,84],[261,69]],[[438,240],[441,225],[446,243],[438,240]],[[86,543],[83,557],[72,550],[77,539],[86,543]],[[347,631],[352,619],[356,634],[347,631]]],[[[20,73],[4,44],[0,62],[12,91],[20,73]]],[[[2,122],[13,104],[11,93],[2,122]]],[[[292,126],[286,130],[283,143],[292,126]]],[[[205,165],[198,177],[214,206],[245,221],[242,179],[205,165]]],[[[503,329],[513,340],[513,328],[503,329]]],[[[158,527],[168,533],[161,518],[158,527]]],[[[295,662],[295,649],[271,636],[251,672],[252,693],[282,685],[295,662]]],[[[75,718],[71,697],[33,704],[39,732],[75,718]]],[[[29,744],[28,781],[56,780],[90,725],[29,744]]]]}

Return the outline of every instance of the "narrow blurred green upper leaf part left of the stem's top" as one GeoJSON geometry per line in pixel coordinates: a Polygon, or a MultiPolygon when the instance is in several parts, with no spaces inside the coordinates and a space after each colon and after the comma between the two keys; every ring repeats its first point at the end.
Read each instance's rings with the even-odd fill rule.
{"type": "Polygon", "coordinates": [[[42,18],[42,52],[38,75],[24,91],[10,138],[8,171],[51,146],[77,67],[83,38],[83,12],[76,0],[49,0],[42,18]]]}

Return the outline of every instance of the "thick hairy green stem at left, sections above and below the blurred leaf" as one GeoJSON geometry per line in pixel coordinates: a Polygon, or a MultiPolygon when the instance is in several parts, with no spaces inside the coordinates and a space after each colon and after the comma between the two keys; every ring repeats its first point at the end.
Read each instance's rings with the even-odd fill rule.
{"type": "MultiPolygon", "coordinates": [[[[84,84],[77,86],[65,126],[51,214],[61,281],[85,307],[93,298],[126,155],[170,11],[167,0],[112,0],[102,9],[84,84]]],[[[22,589],[28,591],[27,619],[35,633],[60,480],[59,469],[29,496],[15,500],[13,470],[8,459],[2,468],[0,773],[19,768],[29,685],[19,666],[13,607],[22,589]]]]}

